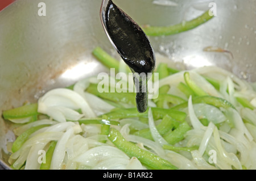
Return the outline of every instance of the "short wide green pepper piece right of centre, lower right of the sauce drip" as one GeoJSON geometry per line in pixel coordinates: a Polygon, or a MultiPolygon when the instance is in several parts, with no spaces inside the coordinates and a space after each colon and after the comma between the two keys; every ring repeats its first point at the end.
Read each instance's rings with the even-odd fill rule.
{"type": "Polygon", "coordinates": [[[174,131],[169,131],[167,134],[163,136],[164,140],[168,142],[170,145],[174,145],[177,142],[184,139],[184,134],[189,131],[191,127],[188,125],[186,121],[181,123],[174,131]]]}

